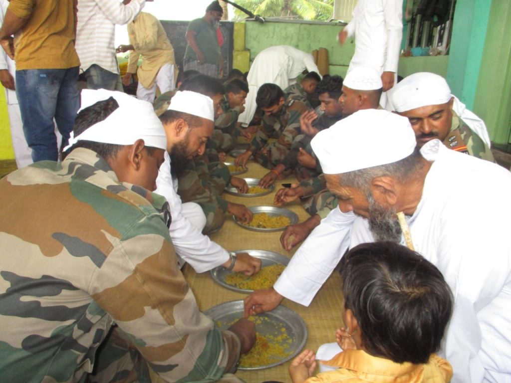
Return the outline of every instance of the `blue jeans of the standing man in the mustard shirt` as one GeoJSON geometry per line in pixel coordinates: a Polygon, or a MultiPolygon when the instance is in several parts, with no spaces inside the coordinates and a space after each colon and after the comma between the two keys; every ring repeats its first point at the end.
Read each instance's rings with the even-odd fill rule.
{"type": "Polygon", "coordinates": [[[55,123],[67,145],[80,107],[79,67],[68,69],[16,70],[16,95],[23,132],[34,162],[57,161],[55,123]]]}

